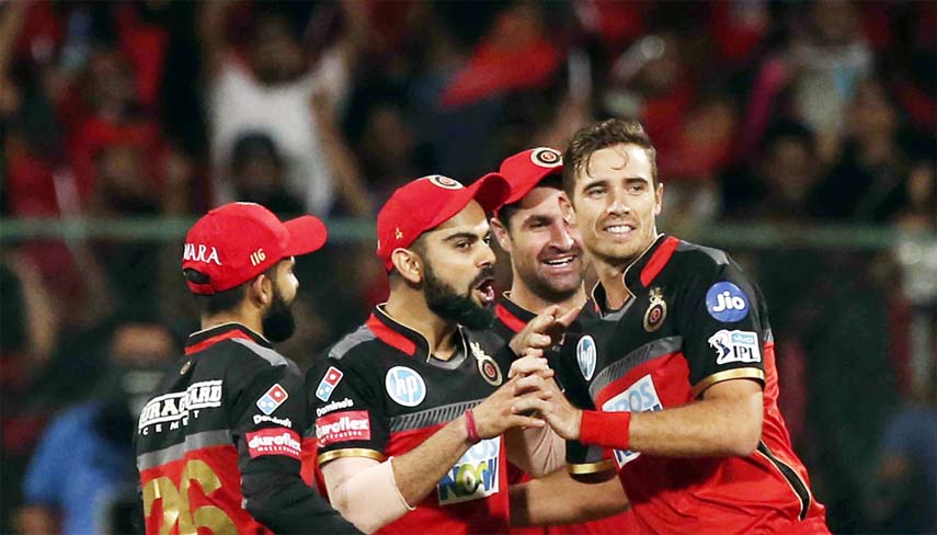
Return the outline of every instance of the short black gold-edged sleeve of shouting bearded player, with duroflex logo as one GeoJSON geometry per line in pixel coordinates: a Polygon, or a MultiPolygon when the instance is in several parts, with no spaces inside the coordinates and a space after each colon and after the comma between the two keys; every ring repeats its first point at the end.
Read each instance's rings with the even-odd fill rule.
{"type": "Polygon", "coordinates": [[[386,458],[390,426],[381,396],[384,377],[374,372],[324,358],[307,374],[320,466],[339,457],[386,458]]]}

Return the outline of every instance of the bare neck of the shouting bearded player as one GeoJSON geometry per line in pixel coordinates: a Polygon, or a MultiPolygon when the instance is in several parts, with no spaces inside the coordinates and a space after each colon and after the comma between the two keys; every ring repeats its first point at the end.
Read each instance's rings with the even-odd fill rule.
{"type": "Polygon", "coordinates": [[[430,310],[422,292],[391,292],[384,310],[398,323],[422,334],[436,358],[448,361],[455,354],[458,325],[430,310]]]}

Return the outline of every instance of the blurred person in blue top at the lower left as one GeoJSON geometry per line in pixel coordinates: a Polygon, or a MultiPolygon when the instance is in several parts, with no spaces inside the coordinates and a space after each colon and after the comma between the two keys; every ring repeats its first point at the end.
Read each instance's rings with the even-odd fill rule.
{"type": "Polygon", "coordinates": [[[124,496],[136,497],[134,426],[175,353],[153,323],[123,323],[112,337],[110,371],[91,401],[66,410],[46,429],[23,481],[20,527],[33,534],[127,533],[124,496]]]}

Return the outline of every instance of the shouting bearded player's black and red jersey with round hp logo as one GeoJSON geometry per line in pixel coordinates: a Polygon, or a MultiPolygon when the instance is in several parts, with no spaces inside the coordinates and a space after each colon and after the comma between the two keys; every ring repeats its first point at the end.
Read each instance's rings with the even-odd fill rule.
{"type": "MultiPolygon", "coordinates": [[[[459,327],[456,353],[430,353],[419,332],[378,306],[306,376],[319,466],[340,457],[384,460],[422,444],[507,380],[510,360],[490,331],[459,327]]],[[[471,447],[436,490],[380,533],[504,533],[506,449],[499,436],[471,447]]]]}

